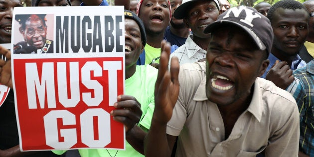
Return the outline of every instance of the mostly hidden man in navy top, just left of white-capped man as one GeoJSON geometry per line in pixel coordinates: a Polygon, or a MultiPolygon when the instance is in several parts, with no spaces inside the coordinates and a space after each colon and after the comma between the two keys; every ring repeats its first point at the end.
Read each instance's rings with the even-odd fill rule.
{"type": "MultiPolygon", "coordinates": [[[[170,0],[171,12],[174,12],[181,3],[182,0],[170,0]]],[[[183,19],[176,19],[172,14],[170,25],[165,30],[164,37],[171,45],[180,47],[191,33],[190,28],[183,22],[183,19]]]]}

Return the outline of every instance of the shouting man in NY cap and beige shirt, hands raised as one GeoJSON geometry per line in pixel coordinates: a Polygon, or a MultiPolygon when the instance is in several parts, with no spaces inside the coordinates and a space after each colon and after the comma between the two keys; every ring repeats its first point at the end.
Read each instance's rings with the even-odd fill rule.
{"type": "Polygon", "coordinates": [[[204,32],[211,33],[206,62],[179,67],[173,57],[168,71],[163,45],[145,155],[169,157],[178,136],[177,157],[297,157],[296,101],[259,78],[269,64],[270,21],[233,7],[204,32]]]}

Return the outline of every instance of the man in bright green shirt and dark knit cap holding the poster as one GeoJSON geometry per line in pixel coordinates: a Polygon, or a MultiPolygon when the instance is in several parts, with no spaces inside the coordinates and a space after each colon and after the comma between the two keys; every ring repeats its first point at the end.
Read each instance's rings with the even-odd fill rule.
{"type": "MultiPolygon", "coordinates": [[[[81,157],[144,157],[144,138],[151,127],[154,112],[154,90],[157,69],[136,64],[146,45],[143,22],[132,11],[125,10],[126,80],[125,94],[117,97],[116,110],[110,114],[126,128],[126,150],[81,149],[81,157]]],[[[1,62],[0,62],[1,63],[1,62]]],[[[65,151],[53,151],[63,154],[65,151]]]]}

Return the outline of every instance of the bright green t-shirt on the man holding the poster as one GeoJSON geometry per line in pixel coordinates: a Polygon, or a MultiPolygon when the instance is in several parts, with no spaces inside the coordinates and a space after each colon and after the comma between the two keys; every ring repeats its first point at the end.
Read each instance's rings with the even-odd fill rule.
{"type": "MultiPolygon", "coordinates": [[[[151,121],[155,108],[155,82],[157,80],[158,70],[151,65],[137,65],[136,72],[133,76],[125,81],[125,94],[134,96],[141,104],[142,117],[139,126],[148,131],[151,128],[151,121]]],[[[64,151],[52,151],[61,155],[64,151]]],[[[138,153],[126,141],[126,151],[109,150],[109,149],[81,149],[81,157],[144,157],[138,153]]]]}

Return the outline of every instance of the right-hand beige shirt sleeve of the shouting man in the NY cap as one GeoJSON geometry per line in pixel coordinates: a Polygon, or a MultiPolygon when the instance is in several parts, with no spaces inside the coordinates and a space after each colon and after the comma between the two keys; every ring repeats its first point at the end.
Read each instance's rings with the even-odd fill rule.
{"type": "Polygon", "coordinates": [[[271,133],[266,157],[298,157],[300,139],[299,111],[295,103],[286,102],[272,109],[271,133]],[[282,110],[283,112],[277,112],[282,110]],[[280,109],[281,108],[281,109],[280,109]]]}

